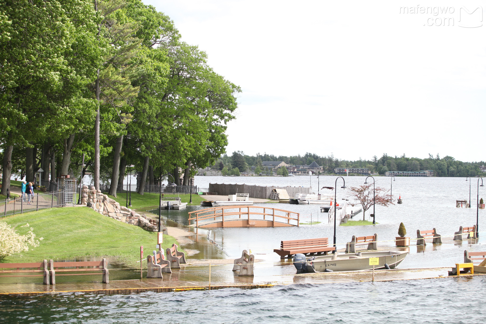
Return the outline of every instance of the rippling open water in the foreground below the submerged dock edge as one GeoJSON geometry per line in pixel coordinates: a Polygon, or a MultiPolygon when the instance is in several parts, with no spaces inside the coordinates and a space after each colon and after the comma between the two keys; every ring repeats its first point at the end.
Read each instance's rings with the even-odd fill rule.
{"type": "Polygon", "coordinates": [[[486,278],[0,298],[0,323],[485,323],[486,278]]]}

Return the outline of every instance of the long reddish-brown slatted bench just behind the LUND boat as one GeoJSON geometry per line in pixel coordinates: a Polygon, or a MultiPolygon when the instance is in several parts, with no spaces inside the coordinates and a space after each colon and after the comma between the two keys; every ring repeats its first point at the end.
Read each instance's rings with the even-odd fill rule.
{"type": "Polygon", "coordinates": [[[281,241],[280,250],[274,250],[280,258],[291,258],[297,253],[303,255],[324,254],[327,255],[328,251],[334,251],[334,247],[328,246],[328,238],[321,239],[295,239],[291,241],[281,241]]]}

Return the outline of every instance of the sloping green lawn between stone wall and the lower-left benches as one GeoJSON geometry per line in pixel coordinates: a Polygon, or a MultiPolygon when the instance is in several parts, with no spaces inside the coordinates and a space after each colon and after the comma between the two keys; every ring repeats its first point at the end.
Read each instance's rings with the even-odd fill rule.
{"type": "MultiPolygon", "coordinates": [[[[1,262],[41,262],[44,259],[111,256],[127,266],[139,267],[140,264],[136,262],[140,260],[140,246],[143,245],[147,251],[145,256],[149,254],[148,251],[151,253],[156,250],[157,233],[115,221],[88,207],[44,209],[0,218],[0,222],[15,226],[19,234],[28,232],[28,227],[20,226],[29,223],[34,227],[35,235],[44,238],[39,247],[7,256],[1,262]]],[[[164,250],[173,243],[177,243],[173,237],[164,235],[164,250]]]]}

